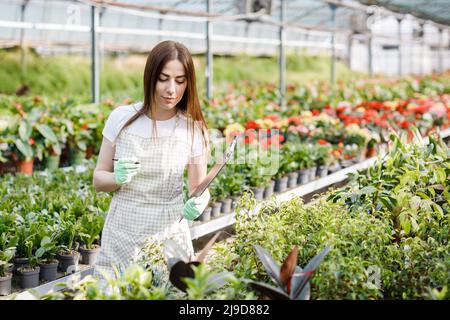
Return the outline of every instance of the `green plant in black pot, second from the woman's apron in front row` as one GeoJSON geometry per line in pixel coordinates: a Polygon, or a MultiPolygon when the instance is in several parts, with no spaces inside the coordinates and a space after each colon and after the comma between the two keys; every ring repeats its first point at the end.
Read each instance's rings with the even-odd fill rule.
{"type": "Polygon", "coordinates": [[[80,253],[74,250],[74,240],[78,232],[78,225],[71,220],[61,221],[61,234],[58,242],[60,250],[56,254],[59,269],[62,272],[73,272],[78,266],[80,253]]]}

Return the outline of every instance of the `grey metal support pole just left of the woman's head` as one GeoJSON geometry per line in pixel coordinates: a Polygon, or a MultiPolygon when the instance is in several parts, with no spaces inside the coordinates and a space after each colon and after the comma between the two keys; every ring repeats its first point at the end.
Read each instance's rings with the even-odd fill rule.
{"type": "Polygon", "coordinates": [[[91,6],[91,89],[92,102],[100,101],[100,74],[98,64],[98,34],[99,11],[96,6],[91,6]]]}

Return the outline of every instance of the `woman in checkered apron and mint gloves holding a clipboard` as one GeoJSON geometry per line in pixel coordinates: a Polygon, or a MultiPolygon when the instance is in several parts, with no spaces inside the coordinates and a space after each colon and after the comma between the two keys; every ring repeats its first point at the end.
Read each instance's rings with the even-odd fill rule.
{"type": "Polygon", "coordinates": [[[208,152],[192,57],[181,43],[161,42],[147,59],[143,103],[117,107],[103,129],[93,183],[114,195],[96,273],[125,268],[150,236],[172,238],[193,255],[187,220],[203,212],[210,194],[184,204],[184,169],[191,193],[206,177],[208,152]]]}

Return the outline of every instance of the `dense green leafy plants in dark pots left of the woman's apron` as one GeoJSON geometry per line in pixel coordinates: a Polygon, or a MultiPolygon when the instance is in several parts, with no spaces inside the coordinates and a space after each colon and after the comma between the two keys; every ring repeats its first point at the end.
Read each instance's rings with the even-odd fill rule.
{"type": "Polygon", "coordinates": [[[32,288],[71,273],[80,257],[95,264],[110,196],[86,188],[89,177],[91,172],[61,170],[2,178],[1,295],[10,294],[11,285],[32,288]]]}

